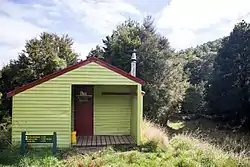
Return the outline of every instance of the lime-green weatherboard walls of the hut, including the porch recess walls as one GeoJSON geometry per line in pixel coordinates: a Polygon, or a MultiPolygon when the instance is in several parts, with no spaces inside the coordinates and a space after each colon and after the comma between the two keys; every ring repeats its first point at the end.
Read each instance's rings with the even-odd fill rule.
{"type": "Polygon", "coordinates": [[[13,96],[12,142],[21,132],[57,132],[58,147],[69,147],[73,126],[72,85],[94,85],[94,134],[131,134],[140,142],[141,85],[94,62],[13,96]],[[112,86],[111,86],[112,85],[112,86]],[[137,92],[136,95],[102,95],[102,91],[137,92]]]}

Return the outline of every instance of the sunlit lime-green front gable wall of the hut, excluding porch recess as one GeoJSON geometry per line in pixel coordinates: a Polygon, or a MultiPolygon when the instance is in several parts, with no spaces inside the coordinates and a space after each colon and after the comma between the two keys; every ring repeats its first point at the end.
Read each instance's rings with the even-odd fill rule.
{"type": "MultiPolygon", "coordinates": [[[[138,83],[93,62],[19,93],[13,97],[13,144],[20,142],[22,131],[27,131],[27,134],[52,134],[53,131],[56,131],[58,146],[68,147],[70,145],[72,84],[138,85],[138,83]]],[[[112,101],[115,104],[115,100],[114,98],[105,102],[112,101]]],[[[129,109],[127,103],[131,103],[131,100],[125,98],[124,103],[122,102],[124,109],[129,109]]],[[[119,101],[116,105],[119,105],[119,101]]],[[[120,114],[130,118],[130,115],[123,110],[120,110],[120,114]]],[[[125,124],[127,124],[126,120],[124,120],[125,124]]],[[[130,125],[130,123],[128,124],[130,125]]],[[[128,132],[130,127],[120,128],[124,132],[128,132]]]]}

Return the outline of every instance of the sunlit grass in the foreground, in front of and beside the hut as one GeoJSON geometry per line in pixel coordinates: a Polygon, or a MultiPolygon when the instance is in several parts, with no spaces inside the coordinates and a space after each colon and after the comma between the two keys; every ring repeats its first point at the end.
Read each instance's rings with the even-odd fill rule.
{"type": "MultiPolygon", "coordinates": [[[[183,127],[182,127],[183,128],[183,127]]],[[[109,167],[109,166],[166,166],[166,167],[249,167],[250,159],[244,151],[228,151],[211,143],[197,133],[170,137],[168,132],[151,122],[143,123],[143,145],[132,148],[107,148],[81,154],[64,150],[56,156],[51,150],[30,150],[21,156],[18,150],[0,153],[0,166],[19,167],[109,167]]],[[[229,143],[230,144],[230,143],[229,143]]]]}

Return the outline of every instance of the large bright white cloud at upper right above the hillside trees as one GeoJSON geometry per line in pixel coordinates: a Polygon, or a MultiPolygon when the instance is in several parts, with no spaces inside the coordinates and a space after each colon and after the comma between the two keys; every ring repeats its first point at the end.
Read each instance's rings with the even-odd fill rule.
{"type": "Polygon", "coordinates": [[[172,0],[161,12],[157,27],[177,49],[228,35],[242,19],[250,19],[249,0],[172,0]]]}

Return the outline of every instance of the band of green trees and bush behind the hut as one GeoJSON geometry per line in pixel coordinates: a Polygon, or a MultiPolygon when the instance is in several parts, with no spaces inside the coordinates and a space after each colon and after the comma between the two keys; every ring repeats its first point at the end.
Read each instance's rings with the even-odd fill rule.
{"type": "MultiPolygon", "coordinates": [[[[17,60],[1,69],[0,111],[10,109],[6,93],[77,62],[67,35],[42,33],[27,41],[17,60]]],[[[238,23],[228,37],[174,51],[157,33],[152,17],[118,25],[87,57],[98,57],[130,72],[137,53],[144,116],[165,125],[179,112],[220,116],[223,124],[250,125],[250,25],[238,23]]],[[[3,112],[0,116],[3,116],[3,112]]]]}

